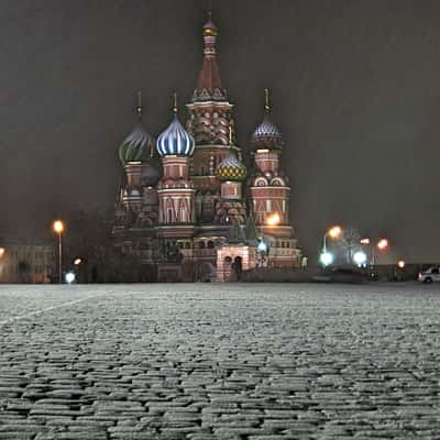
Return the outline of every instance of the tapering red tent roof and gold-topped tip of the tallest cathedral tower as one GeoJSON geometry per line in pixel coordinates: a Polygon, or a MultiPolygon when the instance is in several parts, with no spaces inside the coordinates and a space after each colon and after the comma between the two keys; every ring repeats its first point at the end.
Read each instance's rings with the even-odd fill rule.
{"type": "Polygon", "coordinates": [[[227,100],[227,92],[223,89],[217,64],[217,35],[218,29],[212,22],[211,13],[209,12],[208,21],[202,28],[204,64],[194,91],[193,102],[227,100]]]}

